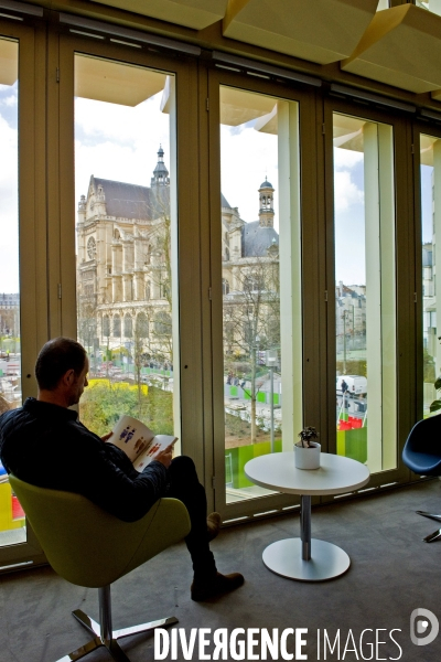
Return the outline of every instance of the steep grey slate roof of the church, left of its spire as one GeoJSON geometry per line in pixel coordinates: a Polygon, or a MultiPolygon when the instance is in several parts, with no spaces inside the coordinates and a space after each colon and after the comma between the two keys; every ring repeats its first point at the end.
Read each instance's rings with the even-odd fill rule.
{"type": "Polygon", "coordinates": [[[154,215],[154,194],[148,186],[94,178],[95,192],[103,188],[108,216],[147,218],[154,215]]]}

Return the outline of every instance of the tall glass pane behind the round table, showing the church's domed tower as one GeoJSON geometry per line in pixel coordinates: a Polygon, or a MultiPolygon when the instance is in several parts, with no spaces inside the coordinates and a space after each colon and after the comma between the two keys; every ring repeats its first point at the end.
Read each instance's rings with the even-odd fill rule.
{"type": "Polygon", "coordinates": [[[227,503],[268,493],[252,457],[302,425],[298,104],[220,87],[227,503]]]}

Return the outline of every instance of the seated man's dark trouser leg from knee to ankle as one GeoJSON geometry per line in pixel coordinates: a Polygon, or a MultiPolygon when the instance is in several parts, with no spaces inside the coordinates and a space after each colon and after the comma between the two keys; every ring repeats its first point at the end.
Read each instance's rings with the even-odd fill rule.
{"type": "Polygon", "coordinates": [[[208,545],[205,489],[198,481],[196,467],[191,458],[181,456],[172,460],[169,476],[166,495],[183,502],[192,523],[185,543],[192,557],[195,578],[211,577],[216,573],[216,564],[208,545]]]}

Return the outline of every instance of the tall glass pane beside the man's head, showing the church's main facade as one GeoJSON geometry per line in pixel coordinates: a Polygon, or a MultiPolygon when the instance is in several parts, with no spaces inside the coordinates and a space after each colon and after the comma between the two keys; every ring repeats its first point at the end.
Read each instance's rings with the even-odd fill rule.
{"type": "Polygon", "coordinates": [[[99,435],[127,414],[179,436],[174,126],[173,76],[75,55],[80,418],[99,435]]]}

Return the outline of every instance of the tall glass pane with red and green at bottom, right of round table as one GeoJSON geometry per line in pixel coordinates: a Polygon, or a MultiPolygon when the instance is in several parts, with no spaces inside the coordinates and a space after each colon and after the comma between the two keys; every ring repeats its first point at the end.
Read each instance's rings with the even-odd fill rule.
{"type": "Polygon", "coordinates": [[[397,466],[392,128],[334,114],[337,453],[397,466]]]}

